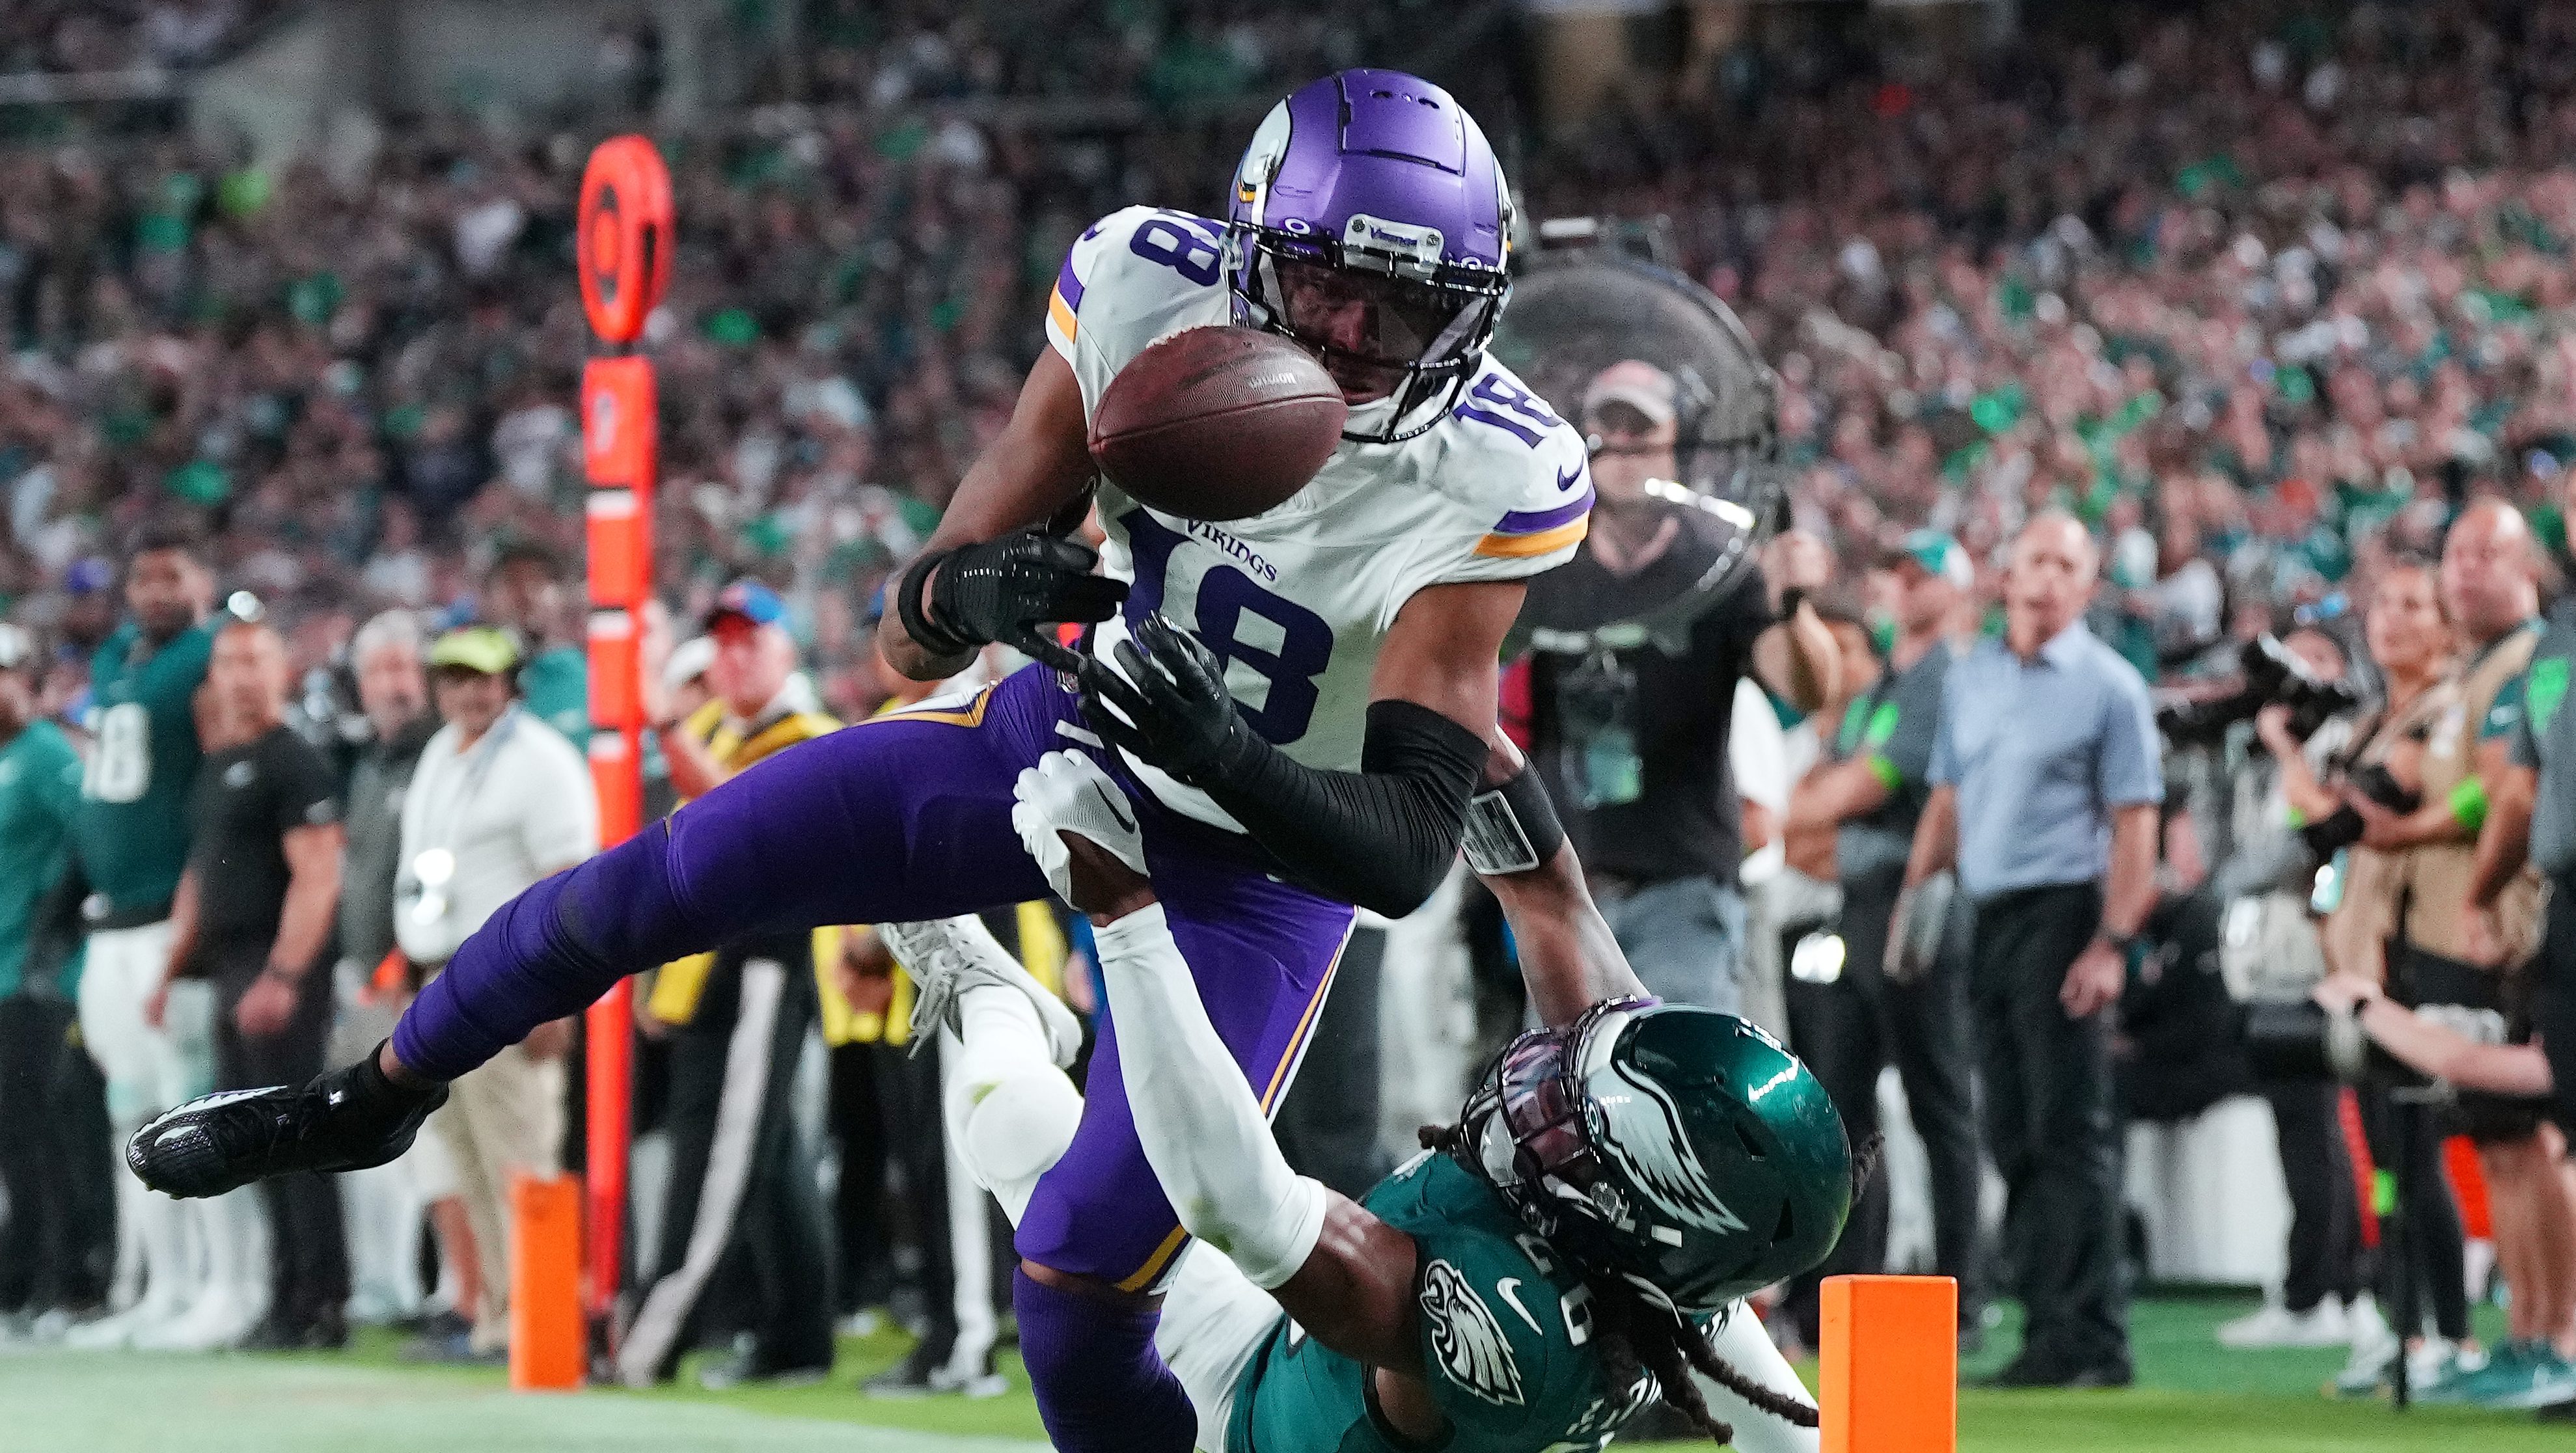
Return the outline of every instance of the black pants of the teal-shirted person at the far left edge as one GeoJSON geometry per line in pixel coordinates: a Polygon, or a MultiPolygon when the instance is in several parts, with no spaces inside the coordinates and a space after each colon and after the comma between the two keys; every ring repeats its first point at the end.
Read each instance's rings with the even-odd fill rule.
{"type": "Polygon", "coordinates": [[[62,1000],[0,1000],[0,1311],[93,1306],[116,1262],[113,1188],[93,1164],[108,1144],[106,1108],[95,1072],[75,1074],[72,1061],[90,1056],[70,1030],[62,1000]]]}

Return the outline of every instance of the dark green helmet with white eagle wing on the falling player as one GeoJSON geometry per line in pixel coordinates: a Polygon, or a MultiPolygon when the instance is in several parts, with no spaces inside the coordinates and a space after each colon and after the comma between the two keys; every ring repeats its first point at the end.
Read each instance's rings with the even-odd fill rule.
{"type": "Polygon", "coordinates": [[[1461,1159],[1577,1265],[1716,1311],[1826,1257],[1852,1146],[1806,1064],[1690,1005],[1607,1000],[1486,1072],[1461,1159]]]}

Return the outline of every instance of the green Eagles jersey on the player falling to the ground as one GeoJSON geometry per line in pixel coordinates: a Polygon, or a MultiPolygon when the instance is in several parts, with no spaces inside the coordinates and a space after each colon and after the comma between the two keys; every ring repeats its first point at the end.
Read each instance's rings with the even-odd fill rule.
{"type": "MultiPolygon", "coordinates": [[[[1453,1448],[1592,1453],[1654,1378],[1610,1386],[1582,1275],[1473,1172],[1425,1154],[1363,1201],[1419,1247],[1422,1365],[1453,1448]]],[[[1234,1389],[1229,1453],[1401,1453],[1365,1368],[1280,1322],[1234,1389]]]]}

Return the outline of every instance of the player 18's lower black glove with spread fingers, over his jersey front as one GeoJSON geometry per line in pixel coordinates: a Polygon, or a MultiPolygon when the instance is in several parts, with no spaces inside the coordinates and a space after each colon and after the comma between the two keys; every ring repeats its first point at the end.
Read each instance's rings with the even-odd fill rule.
{"type": "Polygon", "coordinates": [[[1216,652],[1159,611],[1136,623],[1131,641],[1118,641],[1118,665],[1123,678],[1100,660],[1084,660],[1079,672],[1082,716],[1110,745],[1190,786],[1231,775],[1262,747],[1226,696],[1216,652]]]}

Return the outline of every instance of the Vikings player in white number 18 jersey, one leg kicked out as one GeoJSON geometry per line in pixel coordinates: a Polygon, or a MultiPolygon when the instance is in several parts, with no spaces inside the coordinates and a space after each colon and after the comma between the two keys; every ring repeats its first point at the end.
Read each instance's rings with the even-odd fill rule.
{"type": "MultiPolygon", "coordinates": [[[[878,636],[896,670],[940,680],[987,641],[1069,662],[1043,626],[1095,623],[1077,672],[1030,667],[770,757],[497,912],[376,1059],[309,1095],[173,1113],[137,1136],[134,1167],[180,1193],[353,1167],[446,1079],[647,964],[755,927],[1038,897],[1012,781],[1069,745],[1128,793],[1211,1018],[1275,1105],[1352,904],[1409,912],[1455,860],[1522,582],[1584,536],[1584,441],[1484,353],[1510,232],[1476,121],[1383,70],[1280,103],[1224,222],[1103,219],[1059,276],[1054,348],[878,636]],[[1221,322],[1324,363],[1350,404],[1340,451],[1249,520],[1100,487],[1105,559],[1061,538],[1090,500],[1103,386],[1157,337],[1221,322]]],[[[1092,1064],[1082,1126],[1018,1229],[1023,1355],[1056,1448],[1182,1453],[1195,1422],[1154,1353],[1151,1293],[1188,1237],[1136,1144],[1115,1025],[1092,1064]]]]}

